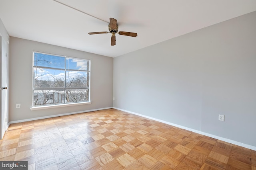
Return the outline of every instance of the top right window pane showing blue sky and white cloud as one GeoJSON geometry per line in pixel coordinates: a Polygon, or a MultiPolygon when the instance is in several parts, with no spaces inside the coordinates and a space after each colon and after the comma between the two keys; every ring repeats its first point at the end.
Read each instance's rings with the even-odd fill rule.
{"type": "Polygon", "coordinates": [[[66,58],[67,70],[88,70],[88,61],[66,58]]]}

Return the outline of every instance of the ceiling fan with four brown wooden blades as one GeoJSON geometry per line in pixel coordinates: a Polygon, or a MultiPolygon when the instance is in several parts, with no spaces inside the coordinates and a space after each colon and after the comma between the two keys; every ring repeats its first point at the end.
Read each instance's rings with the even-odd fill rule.
{"type": "Polygon", "coordinates": [[[137,37],[137,33],[131,33],[131,32],[124,32],[124,31],[119,31],[118,32],[118,25],[117,25],[117,21],[114,18],[109,18],[110,23],[108,24],[108,31],[103,31],[103,32],[92,32],[92,33],[88,33],[90,35],[92,34],[103,34],[103,33],[111,33],[111,45],[116,45],[116,33],[118,33],[119,35],[126,35],[126,36],[130,36],[130,37],[137,37]]]}

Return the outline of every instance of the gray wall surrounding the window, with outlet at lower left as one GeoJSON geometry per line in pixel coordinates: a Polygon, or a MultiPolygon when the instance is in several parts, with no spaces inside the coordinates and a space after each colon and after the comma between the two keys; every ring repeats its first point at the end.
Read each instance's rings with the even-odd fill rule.
{"type": "Polygon", "coordinates": [[[10,38],[10,121],[74,113],[113,106],[113,58],[64,47],[10,38]],[[91,60],[92,104],[30,110],[32,106],[32,51],[91,60]],[[16,104],[21,104],[16,109],[16,104]]]}

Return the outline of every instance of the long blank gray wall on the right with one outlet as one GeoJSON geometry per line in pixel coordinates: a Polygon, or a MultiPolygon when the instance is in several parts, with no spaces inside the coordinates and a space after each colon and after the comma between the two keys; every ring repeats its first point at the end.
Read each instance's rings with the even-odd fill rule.
{"type": "Polygon", "coordinates": [[[256,146],[255,18],[253,12],[114,58],[113,106],[256,146]]]}

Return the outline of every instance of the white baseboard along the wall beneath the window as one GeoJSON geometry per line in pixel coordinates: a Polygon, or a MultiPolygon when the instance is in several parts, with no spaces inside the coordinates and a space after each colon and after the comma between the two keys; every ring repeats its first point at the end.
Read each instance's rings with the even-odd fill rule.
{"type": "Polygon", "coordinates": [[[98,111],[98,110],[104,110],[104,109],[112,109],[113,107],[105,107],[105,108],[100,108],[100,109],[92,109],[92,110],[85,110],[85,111],[77,111],[77,112],[72,112],[72,113],[64,113],[64,114],[58,114],[58,115],[49,115],[49,116],[43,116],[43,117],[35,117],[31,119],[23,119],[23,120],[17,120],[17,121],[10,121],[8,125],[12,123],[20,123],[20,122],[25,122],[25,121],[33,121],[33,120],[39,120],[39,119],[47,119],[51,117],[58,117],[58,116],[66,116],[66,115],[74,115],[78,113],[85,113],[85,112],[90,112],[90,111],[98,111]]]}

